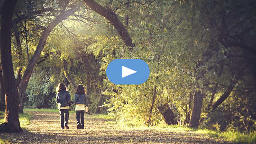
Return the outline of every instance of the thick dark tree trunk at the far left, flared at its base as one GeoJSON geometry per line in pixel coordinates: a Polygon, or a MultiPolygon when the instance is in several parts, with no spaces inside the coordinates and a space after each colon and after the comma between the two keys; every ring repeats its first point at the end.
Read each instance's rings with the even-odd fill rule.
{"type": "Polygon", "coordinates": [[[5,92],[5,123],[0,125],[0,133],[22,131],[18,119],[18,92],[11,56],[11,23],[17,0],[4,0],[1,11],[0,53],[1,69],[5,92]]]}

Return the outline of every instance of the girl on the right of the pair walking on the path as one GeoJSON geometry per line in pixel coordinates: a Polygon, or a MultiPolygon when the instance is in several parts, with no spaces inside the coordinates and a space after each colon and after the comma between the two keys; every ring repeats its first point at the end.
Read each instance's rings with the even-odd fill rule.
{"type": "Polygon", "coordinates": [[[82,85],[78,85],[76,88],[74,103],[77,129],[84,129],[84,111],[88,112],[88,100],[85,88],[82,85]],[[85,105],[86,109],[84,108],[85,105]]]}

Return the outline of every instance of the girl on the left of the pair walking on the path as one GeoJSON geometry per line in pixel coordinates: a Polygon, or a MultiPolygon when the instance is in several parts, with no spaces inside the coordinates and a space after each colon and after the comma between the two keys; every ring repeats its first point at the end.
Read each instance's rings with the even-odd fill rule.
{"type": "Polygon", "coordinates": [[[56,87],[56,99],[55,102],[58,104],[58,109],[60,112],[60,120],[61,120],[61,128],[64,129],[68,127],[68,117],[69,117],[69,106],[72,104],[72,101],[70,100],[69,92],[66,91],[66,85],[64,83],[60,83],[56,87]],[[64,116],[65,116],[65,123],[64,123],[64,116]]]}

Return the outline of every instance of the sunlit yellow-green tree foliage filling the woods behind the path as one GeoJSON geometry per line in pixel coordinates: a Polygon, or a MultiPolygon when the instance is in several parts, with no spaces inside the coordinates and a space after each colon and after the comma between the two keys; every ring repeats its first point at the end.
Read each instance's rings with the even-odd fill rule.
{"type": "MultiPolygon", "coordinates": [[[[40,9],[42,1],[33,2],[25,10],[22,8],[27,4],[21,2],[19,9],[30,15],[29,9],[40,9]]],[[[58,0],[44,2],[54,8],[63,5],[58,0]]],[[[163,112],[167,108],[171,108],[174,121],[179,125],[189,124],[195,92],[200,92],[203,100],[199,116],[200,120],[204,119],[200,127],[210,131],[198,130],[198,133],[230,136],[231,142],[243,142],[239,137],[254,132],[256,75],[253,61],[256,57],[253,50],[242,48],[245,43],[248,49],[255,46],[252,41],[255,27],[251,27],[255,24],[255,15],[249,17],[249,11],[255,11],[255,8],[254,4],[249,5],[250,0],[133,1],[128,7],[123,0],[97,2],[115,11],[123,24],[129,16],[125,26],[136,47],[129,50],[106,19],[84,8],[51,32],[28,84],[26,107],[56,109],[55,87],[58,83],[69,84],[67,88],[72,100],[73,83],[82,84],[90,98],[91,113],[97,109],[103,94],[101,112],[108,112],[119,124],[145,127],[150,120],[152,126],[164,125],[161,127],[164,129],[167,126],[163,112]],[[242,8],[237,9],[240,5],[242,8]],[[83,18],[74,21],[79,15],[83,18]],[[227,46],[230,43],[225,42],[230,41],[244,43],[227,46]],[[148,80],[142,85],[112,84],[106,77],[106,68],[113,59],[143,59],[150,68],[148,80]],[[232,91],[228,98],[212,110],[212,105],[230,86],[232,91]],[[165,106],[163,110],[161,106],[165,106]],[[227,134],[223,132],[225,130],[227,134]]],[[[28,34],[29,55],[36,49],[43,30],[40,26],[45,26],[52,18],[31,17],[27,21],[27,28],[35,30],[28,34]]],[[[23,29],[20,23],[16,28],[23,29]]],[[[15,45],[14,37],[12,42],[15,45]]],[[[25,47],[22,41],[21,55],[18,55],[18,47],[12,49],[16,75],[19,68],[24,73],[27,67],[25,47]]],[[[252,134],[246,143],[253,143],[254,137],[252,134]]]]}

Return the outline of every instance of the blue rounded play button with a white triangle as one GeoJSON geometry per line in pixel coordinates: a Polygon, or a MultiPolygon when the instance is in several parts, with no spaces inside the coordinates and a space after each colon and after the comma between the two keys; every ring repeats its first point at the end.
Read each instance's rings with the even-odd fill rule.
{"type": "Polygon", "coordinates": [[[106,73],[116,85],[140,85],[146,82],[150,70],[141,59],[115,59],[109,63],[106,73]]]}

